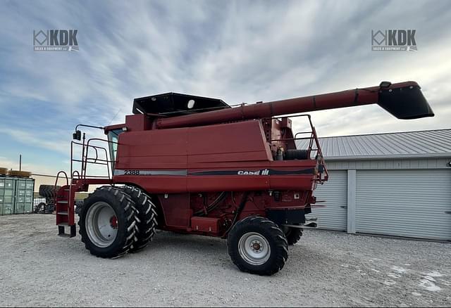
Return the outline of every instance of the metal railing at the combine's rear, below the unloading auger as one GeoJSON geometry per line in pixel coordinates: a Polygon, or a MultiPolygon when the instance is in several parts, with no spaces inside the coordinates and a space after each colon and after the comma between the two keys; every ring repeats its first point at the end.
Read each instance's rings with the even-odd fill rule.
{"type": "Polygon", "coordinates": [[[326,168],[326,162],[324,162],[323,158],[323,152],[321,150],[321,146],[319,144],[318,136],[316,135],[316,129],[313,126],[313,123],[311,122],[310,115],[292,115],[289,117],[274,117],[274,119],[285,119],[290,117],[307,117],[309,120],[309,125],[311,130],[309,131],[299,131],[295,134],[293,138],[283,138],[283,139],[271,139],[269,142],[273,141],[292,141],[296,145],[296,141],[298,140],[308,140],[308,147],[307,147],[307,158],[314,158],[315,160],[319,160],[319,170],[316,173],[316,184],[323,184],[325,181],[328,180],[329,174],[328,170],[326,168]],[[297,137],[298,135],[301,135],[301,137],[297,137]],[[303,136],[307,135],[307,136],[303,136]],[[324,174],[324,176],[323,176],[324,174]]]}

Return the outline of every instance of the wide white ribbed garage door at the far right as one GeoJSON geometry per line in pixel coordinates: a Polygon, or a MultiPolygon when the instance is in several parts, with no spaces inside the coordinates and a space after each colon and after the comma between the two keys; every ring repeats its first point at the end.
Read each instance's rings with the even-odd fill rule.
{"type": "Polygon", "coordinates": [[[356,231],[451,240],[451,170],[358,170],[356,231]]]}

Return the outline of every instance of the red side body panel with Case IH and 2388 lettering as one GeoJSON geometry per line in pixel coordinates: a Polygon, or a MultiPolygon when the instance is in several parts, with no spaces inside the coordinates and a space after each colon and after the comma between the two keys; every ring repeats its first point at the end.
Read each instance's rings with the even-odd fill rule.
{"type": "Polygon", "coordinates": [[[310,190],[314,172],[302,175],[246,175],[260,169],[313,170],[316,160],[273,161],[261,122],[211,127],[130,131],[119,136],[113,181],[133,183],[152,193],[310,190]],[[181,175],[124,175],[121,170],[173,171],[181,175]],[[210,172],[216,174],[202,174],[210,172]],[[235,172],[227,174],[227,172],[235,172]]]}

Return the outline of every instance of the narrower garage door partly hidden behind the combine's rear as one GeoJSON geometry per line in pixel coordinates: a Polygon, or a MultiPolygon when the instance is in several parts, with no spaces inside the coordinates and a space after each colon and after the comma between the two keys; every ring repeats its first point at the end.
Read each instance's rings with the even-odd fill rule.
{"type": "Polygon", "coordinates": [[[329,172],[329,180],[314,191],[316,200],[325,200],[326,207],[314,207],[307,217],[318,217],[318,228],[346,231],[347,229],[347,172],[329,172]]]}

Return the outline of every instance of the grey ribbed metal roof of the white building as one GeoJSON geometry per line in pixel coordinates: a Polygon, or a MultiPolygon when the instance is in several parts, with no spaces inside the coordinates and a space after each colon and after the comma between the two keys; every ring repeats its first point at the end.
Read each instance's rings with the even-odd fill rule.
{"type": "MultiPolygon", "coordinates": [[[[319,143],[324,158],[333,160],[451,157],[451,129],[333,136],[319,143]]],[[[297,141],[297,148],[307,148],[307,140],[297,141]]]]}

